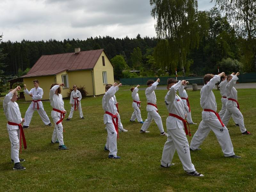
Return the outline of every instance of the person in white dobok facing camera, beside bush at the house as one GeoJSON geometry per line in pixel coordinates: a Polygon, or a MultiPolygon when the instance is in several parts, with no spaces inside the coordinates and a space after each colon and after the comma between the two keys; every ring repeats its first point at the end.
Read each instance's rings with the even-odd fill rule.
{"type": "Polygon", "coordinates": [[[79,109],[80,118],[84,119],[83,111],[81,107],[82,94],[79,90],[77,90],[76,84],[73,85],[73,89],[74,90],[70,94],[70,101],[69,101],[69,103],[71,104],[71,110],[66,121],[69,121],[73,117],[74,111],[78,109],[79,109]]]}

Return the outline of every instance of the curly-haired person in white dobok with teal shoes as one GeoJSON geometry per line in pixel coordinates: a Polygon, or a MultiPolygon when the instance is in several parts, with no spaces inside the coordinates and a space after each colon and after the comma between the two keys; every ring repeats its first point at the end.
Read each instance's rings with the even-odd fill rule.
{"type": "Polygon", "coordinates": [[[52,106],[52,120],[54,122],[54,129],[52,132],[51,143],[59,143],[59,150],[67,150],[66,145],[63,141],[63,126],[62,121],[65,117],[67,111],[64,109],[64,101],[62,99],[60,86],[64,86],[64,83],[57,84],[54,83],[51,85],[50,89],[50,102],[52,106]],[[58,139],[58,140],[57,140],[58,139]]]}

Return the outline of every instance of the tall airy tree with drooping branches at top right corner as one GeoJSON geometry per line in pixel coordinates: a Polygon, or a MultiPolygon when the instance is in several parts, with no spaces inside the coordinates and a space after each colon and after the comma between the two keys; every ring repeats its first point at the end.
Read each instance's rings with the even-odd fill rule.
{"type": "Polygon", "coordinates": [[[256,71],[256,1],[212,0],[226,14],[241,40],[244,69],[256,71]]]}

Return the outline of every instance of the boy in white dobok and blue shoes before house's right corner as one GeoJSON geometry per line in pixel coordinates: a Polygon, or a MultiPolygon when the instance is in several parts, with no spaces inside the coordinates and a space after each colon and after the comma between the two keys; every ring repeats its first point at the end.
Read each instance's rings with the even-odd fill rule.
{"type": "Polygon", "coordinates": [[[102,108],[105,112],[103,116],[103,122],[106,125],[108,132],[107,142],[104,147],[105,151],[109,151],[108,158],[111,159],[120,159],[120,156],[117,156],[117,142],[118,137],[118,117],[116,113],[115,102],[112,100],[112,97],[119,90],[119,86],[122,84],[114,83],[107,84],[105,86],[105,94],[102,98],[102,108]]]}

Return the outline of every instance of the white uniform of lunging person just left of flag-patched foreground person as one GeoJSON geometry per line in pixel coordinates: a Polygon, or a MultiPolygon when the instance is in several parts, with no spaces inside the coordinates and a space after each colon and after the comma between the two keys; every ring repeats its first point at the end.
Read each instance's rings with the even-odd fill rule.
{"type": "MultiPolygon", "coordinates": [[[[158,85],[158,82],[155,82],[150,87],[147,87],[147,89],[145,91],[147,103],[152,103],[152,104],[156,105],[156,94],[155,94],[154,90],[156,90],[157,85],[158,85]]],[[[157,108],[153,105],[147,105],[147,111],[148,111],[148,117],[145,120],[144,124],[142,125],[141,130],[147,131],[149,125],[151,124],[152,119],[154,119],[159,131],[161,133],[164,132],[162,118],[158,114],[157,108]]]]}

